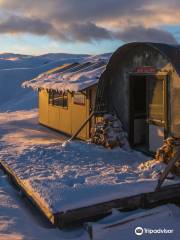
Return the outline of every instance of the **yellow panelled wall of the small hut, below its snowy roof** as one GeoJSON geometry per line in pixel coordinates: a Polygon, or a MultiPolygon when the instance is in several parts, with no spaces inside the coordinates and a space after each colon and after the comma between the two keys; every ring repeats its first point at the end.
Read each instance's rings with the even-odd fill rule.
{"type": "MultiPolygon", "coordinates": [[[[39,122],[43,125],[73,135],[86,121],[90,111],[89,91],[86,91],[85,105],[73,102],[73,94],[68,93],[68,108],[52,106],[48,104],[48,93],[46,90],[39,92],[39,122]]],[[[77,136],[80,139],[88,139],[89,123],[77,136]]]]}

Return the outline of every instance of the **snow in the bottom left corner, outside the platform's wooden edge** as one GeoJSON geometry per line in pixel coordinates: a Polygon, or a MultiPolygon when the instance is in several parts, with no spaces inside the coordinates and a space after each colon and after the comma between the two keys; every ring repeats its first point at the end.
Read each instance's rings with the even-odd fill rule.
{"type": "Polygon", "coordinates": [[[19,197],[0,172],[0,240],[88,240],[83,229],[60,231],[19,197]]]}

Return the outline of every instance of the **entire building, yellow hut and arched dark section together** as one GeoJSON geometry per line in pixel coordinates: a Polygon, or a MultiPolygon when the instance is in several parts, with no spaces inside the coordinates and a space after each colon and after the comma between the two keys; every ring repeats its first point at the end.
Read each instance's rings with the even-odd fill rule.
{"type": "Polygon", "coordinates": [[[120,120],[131,147],[145,152],[180,137],[179,46],[128,43],[108,63],[63,65],[24,85],[39,90],[39,122],[67,134],[74,134],[94,109],[81,139],[89,138],[107,113],[120,120]]]}

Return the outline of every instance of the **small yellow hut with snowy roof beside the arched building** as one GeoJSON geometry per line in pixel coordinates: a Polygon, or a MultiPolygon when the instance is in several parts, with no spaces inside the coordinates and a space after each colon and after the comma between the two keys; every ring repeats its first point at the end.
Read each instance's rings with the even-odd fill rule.
{"type": "MultiPolygon", "coordinates": [[[[23,83],[23,87],[38,90],[40,124],[73,135],[89,118],[107,58],[87,60],[64,64],[23,83]]],[[[96,118],[92,118],[77,137],[89,139],[95,121],[96,118]]]]}

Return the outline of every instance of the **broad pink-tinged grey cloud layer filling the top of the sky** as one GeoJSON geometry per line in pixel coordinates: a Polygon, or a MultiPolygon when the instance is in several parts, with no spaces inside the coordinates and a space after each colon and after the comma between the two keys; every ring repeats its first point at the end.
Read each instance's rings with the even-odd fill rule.
{"type": "Polygon", "coordinates": [[[177,43],[162,25],[180,24],[179,0],[0,0],[0,33],[64,41],[177,43]]]}

